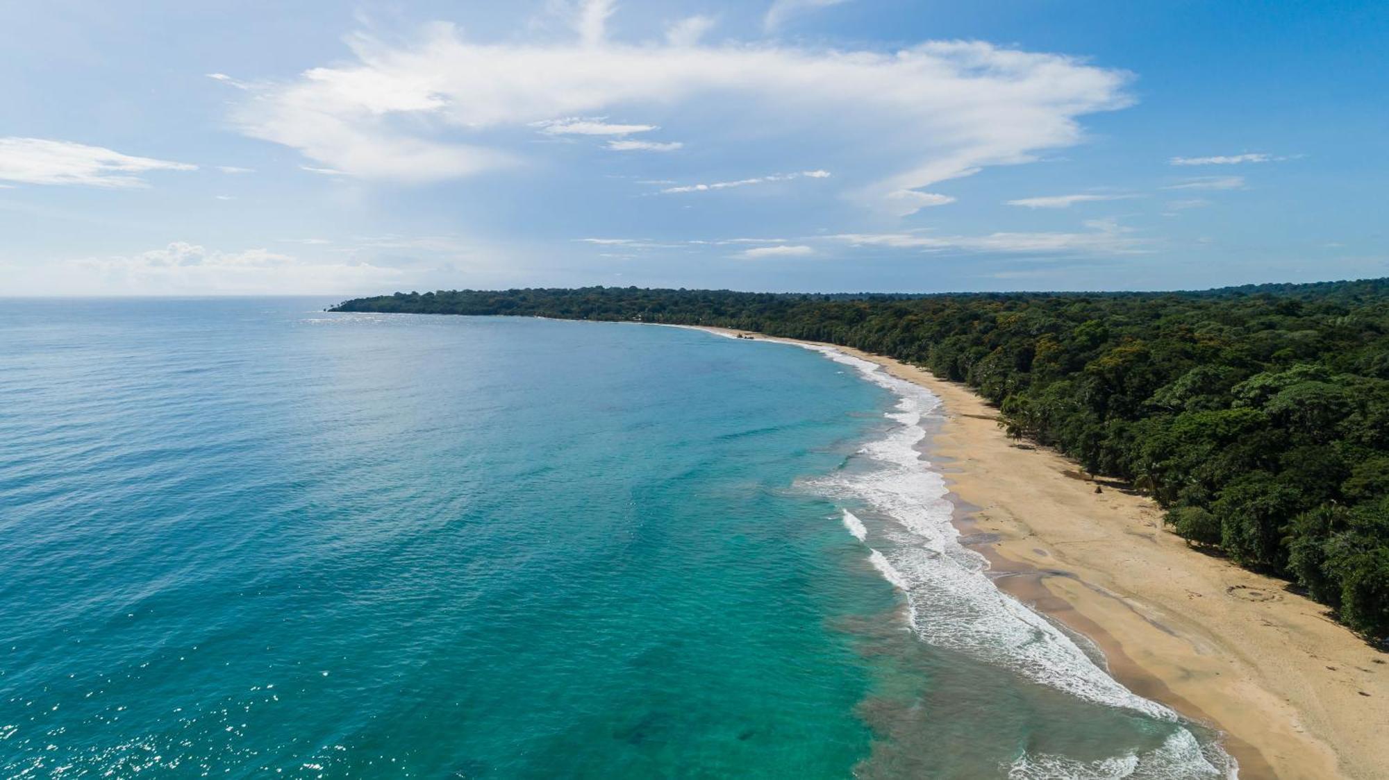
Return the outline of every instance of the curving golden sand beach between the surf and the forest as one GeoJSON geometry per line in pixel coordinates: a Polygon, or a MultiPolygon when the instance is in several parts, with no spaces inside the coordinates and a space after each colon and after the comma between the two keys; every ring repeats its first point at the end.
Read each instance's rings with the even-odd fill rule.
{"type": "Polygon", "coordinates": [[[1007,439],[963,384],[849,347],[758,339],[833,347],[940,397],[928,454],[995,583],[1093,641],[1133,693],[1221,730],[1240,777],[1371,779],[1389,766],[1389,658],[1325,607],[1189,548],[1150,498],[1007,439]]]}

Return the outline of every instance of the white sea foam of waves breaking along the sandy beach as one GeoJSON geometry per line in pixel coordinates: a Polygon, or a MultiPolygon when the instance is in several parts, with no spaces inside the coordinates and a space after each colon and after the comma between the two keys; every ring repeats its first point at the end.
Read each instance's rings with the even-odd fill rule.
{"type": "MultiPolygon", "coordinates": [[[[986,576],[988,561],[960,544],[960,532],[951,523],[954,505],[946,498],[949,489],[945,477],[917,450],[926,437],[924,422],[940,407],[940,398],[889,375],[871,361],[832,347],[800,346],[854,368],[897,397],[896,407],[886,414],[897,425],[858,452],[871,461],[872,468],[843,470],[818,480],[815,486],[831,497],[867,504],[892,520],[882,532],[889,544],[875,541],[870,548],[870,562],[903,591],[910,627],[922,641],[1013,669],[1078,698],[1131,709],[1176,726],[1172,737],[1156,751],[1085,768],[1067,766],[1061,776],[1235,776],[1233,759],[1220,751],[1203,751],[1174,711],[1125,688],[1057,626],[995,587],[986,576]]],[[[867,540],[867,529],[856,515],[845,511],[843,520],[850,533],[861,541],[867,540]]],[[[1010,774],[1020,779],[1054,777],[1054,770],[1063,769],[1061,763],[1067,761],[1061,756],[1024,755],[1010,774]]]]}

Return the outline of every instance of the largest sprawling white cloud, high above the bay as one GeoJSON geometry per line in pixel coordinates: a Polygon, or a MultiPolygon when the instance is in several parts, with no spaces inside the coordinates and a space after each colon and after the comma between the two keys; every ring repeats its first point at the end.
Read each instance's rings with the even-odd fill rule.
{"type": "Polygon", "coordinates": [[[946,197],[926,187],[1081,143],[1079,117],[1131,103],[1125,72],[1064,56],[979,42],[892,53],[628,44],[606,35],[613,8],[586,3],[572,42],[478,43],[449,24],[404,44],[356,35],[354,61],[250,85],[231,119],[314,167],[432,182],[536,153],[507,133],[532,122],[615,111],[697,118],[707,107],[729,118],[718,129],[728,143],[754,137],[768,155],[835,150],[836,171],[851,172],[846,194],[910,214],[946,197]]]}

